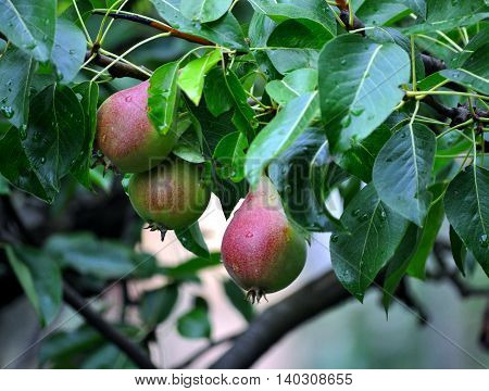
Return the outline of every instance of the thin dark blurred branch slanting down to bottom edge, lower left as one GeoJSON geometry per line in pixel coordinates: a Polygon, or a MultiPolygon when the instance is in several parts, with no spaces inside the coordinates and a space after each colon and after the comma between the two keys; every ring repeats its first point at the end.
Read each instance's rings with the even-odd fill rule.
{"type": "Polygon", "coordinates": [[[127,339],[112,325],[106,323],[97,312],[90,308],[86,300],[66,282],[63,286],[64,301],[78,312],[84,319],[109,341],[114,343],[141,369],[155,369],[149,355],[137,344],[127,339]]]}

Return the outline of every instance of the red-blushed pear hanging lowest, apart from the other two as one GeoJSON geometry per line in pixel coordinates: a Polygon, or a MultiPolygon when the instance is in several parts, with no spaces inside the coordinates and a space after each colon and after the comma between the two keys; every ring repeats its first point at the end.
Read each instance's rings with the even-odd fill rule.
{"type": "Polygon", "coordinates": [[[301,273],[305,239],[288,220],[268,178],[263,177],[236,211],[221,252],[227,272],[252,302],[286,288],[301,273]]]}

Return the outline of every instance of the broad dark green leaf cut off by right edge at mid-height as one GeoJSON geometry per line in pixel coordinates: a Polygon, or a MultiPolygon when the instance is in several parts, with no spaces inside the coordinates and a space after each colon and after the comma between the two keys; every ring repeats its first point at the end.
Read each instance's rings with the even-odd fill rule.
{"type": "Polygon", "coordinates": [[[471,166],[460,173],[447,189],[444,211],[455,232],[489,276],[489,172],[471,166]]]}

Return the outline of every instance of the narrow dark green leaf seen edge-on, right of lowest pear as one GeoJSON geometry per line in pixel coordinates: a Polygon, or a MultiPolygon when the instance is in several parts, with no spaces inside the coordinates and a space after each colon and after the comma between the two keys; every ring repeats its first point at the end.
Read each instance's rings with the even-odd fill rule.
{"type": "Polygon", "coordinates": [[[396,253],[389,260],[386,276],[384,277],[383,291],[383,304],[386,313],[389,311],[393,294],[396,293],[402,277],[404,277],[405,272],[410,266],[411,258],[416,251],[418,236],[419,228],[414,224],[410,224],[396,253]]]}

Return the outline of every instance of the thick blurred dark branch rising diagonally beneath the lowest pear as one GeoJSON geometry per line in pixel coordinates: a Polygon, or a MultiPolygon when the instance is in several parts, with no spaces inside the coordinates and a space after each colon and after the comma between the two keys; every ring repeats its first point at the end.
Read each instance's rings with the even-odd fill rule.
{"type": "Polygon", "coordinates": [[[326,273],[255,317],[211,368],[249,368],[297,326],[350,298],[334,272],[326,273]]]}

